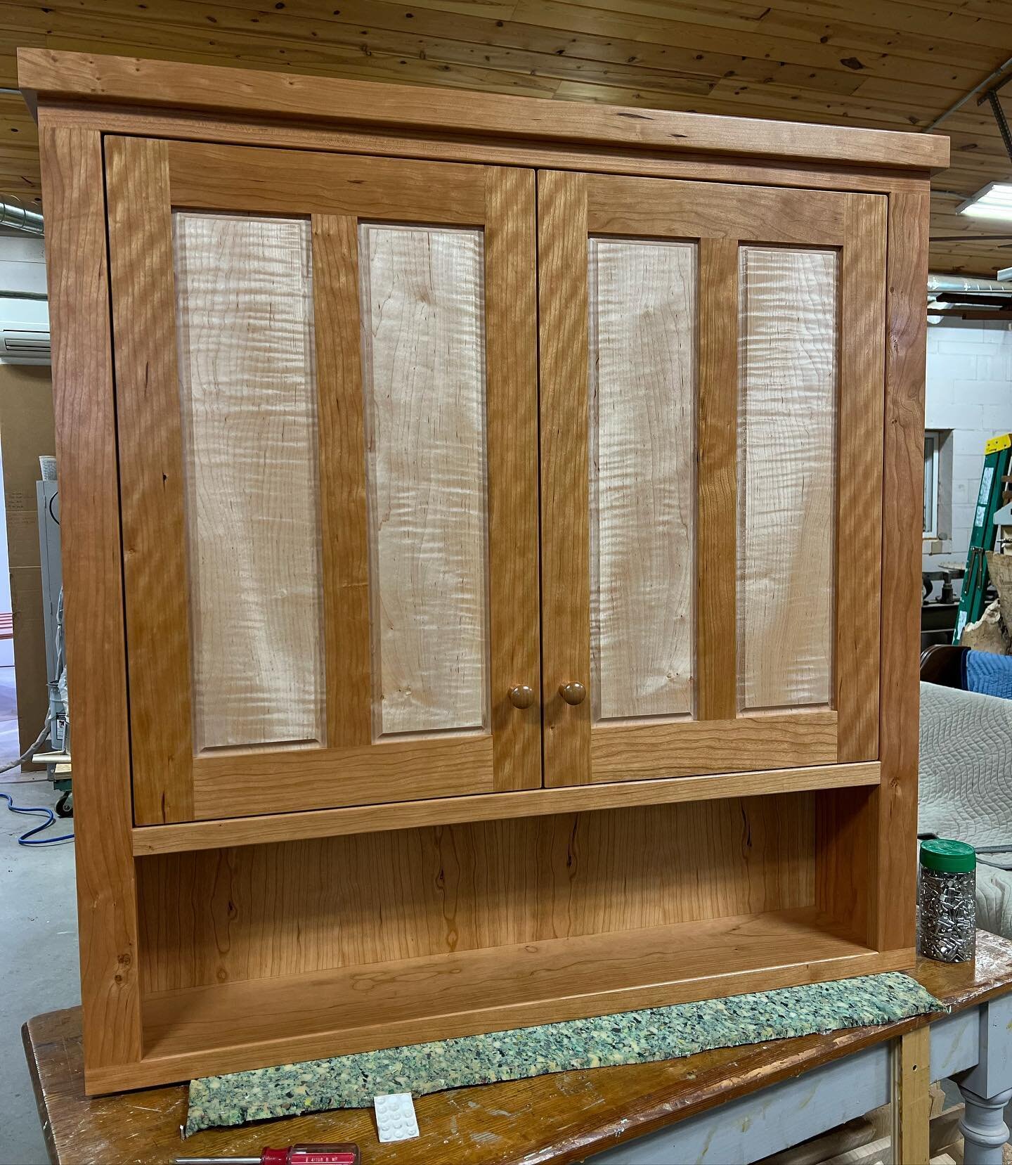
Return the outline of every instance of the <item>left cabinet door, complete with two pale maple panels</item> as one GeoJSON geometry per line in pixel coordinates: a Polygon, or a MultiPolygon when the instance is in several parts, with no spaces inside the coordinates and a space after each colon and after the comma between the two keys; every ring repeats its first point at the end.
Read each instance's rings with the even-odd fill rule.
{"type": "Polygon", "coordinates": [[[539,785],[533,172],[106,165],[137,822],[539,785]]]}

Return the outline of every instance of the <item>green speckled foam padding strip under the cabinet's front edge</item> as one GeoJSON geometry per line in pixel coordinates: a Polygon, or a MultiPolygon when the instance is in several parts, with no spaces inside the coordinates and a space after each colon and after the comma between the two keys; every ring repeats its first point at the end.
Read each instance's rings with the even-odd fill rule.
{"type": "Polygon", "coordinates": [[[890,1023],[941,1007],[915,980],[889,972],[235,1072],[191,1081],[186,1132],[330,1108],[368,1108],[376,1093],[422,1096],[571,1068],[649,1064],[710,1047],[890,1023]]]}

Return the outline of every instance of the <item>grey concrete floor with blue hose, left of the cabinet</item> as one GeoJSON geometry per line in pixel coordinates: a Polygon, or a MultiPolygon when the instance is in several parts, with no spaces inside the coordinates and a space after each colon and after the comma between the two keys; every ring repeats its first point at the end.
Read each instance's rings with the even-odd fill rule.
{"type": "MultiPolygon", "coordinates": [[[[13,760],[17,748],[9,721],[10,679],[13,669],[0,669],[0,747],[14,741],[13,760]]],[[[3,749],[5,755],[8,751],[3,749]]],[[[0,792],[9,793],[17,805],[49,807],[59,796],[45,781],[23,778],[0,783],[0,792]]],[[[45,1165],[49,1160],[21,1025],[41,1011],[80,1002],[73,843],[19,846],[17,835],[37,820],[10,813],[7,803],[0,802],[0,1165],[45,1165]]],[[[49,832],[58,836],[72,826],[72,821],[57,820],[49,832]]]]}

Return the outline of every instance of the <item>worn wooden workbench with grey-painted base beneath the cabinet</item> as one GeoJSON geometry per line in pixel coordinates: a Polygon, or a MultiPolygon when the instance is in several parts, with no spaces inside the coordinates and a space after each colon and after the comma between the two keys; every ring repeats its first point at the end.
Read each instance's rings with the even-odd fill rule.
{"type": "MultiPolygon", "coordinates": [[[[675,1138],[681,1130],[694,1129],[692,1136],[703,1135],[707,1122],[723,1128],[724,1135],[733,1124],[751,1128],[750,1139],[743,1142],[746,1149],[736,1149],[730,1142],[724,1149],[726,1155],[739,1151],[737,1159],[749,1160],[776,1151],[776,1146],[763,1141],[759,1124],[752,1125],[749,1118],[715,1121],[708,1114],[716,1106],[726,1115],[735,1106],[758,1103],[756,1094],[762,1092],[762,1102],[780,1130],[778,1135],[783,1137],[786,1128],[788,1134],[799,1134],[795,1141],[802,1139],[812,1135],[812,1121],[818,1123],[820,1106],[811,1104],[809,1095],[801,1106],[807,1110],[808,1124],[792,1125],[788,1110],[783,1104],[780,1110],[776,1104],[771,1108],[771,1099],[780,1096],[784,1104],[790,1104],[795,1078],[805,1074],[806,1082],[818,1082],[820,1073],[835,1072],[833,1079],[826,1076],[827,1095],[834,1103],[849,1099],[852,1107],[859,1094],[842,1080],[841,1071],[861,1061],[863,1066],[855,1078],[868,1083],[875,1075],[869,1071],[873,1057],[886,1054],[890,1046],[897,1048],[897,1064],[905,1044],[919,1046],[923,1057],[928,1040],[918,1031],[928,1024],[930,1073],[922,1071],[917,1079],[904,1076],[905,1110],[920,1111],[919,1097],[926,1095],[928,1075],[936,1079],[953,1074],[961,1079],[968,1110],[979,1101],[976,1115],[983,1114],[983,1127],[989,1127],[990,1113],[997,1114],[997,1123],[990,1121],[990,1127],[998,1128],[1003,1096],[1012,1089],[1012,942],[979,932],[976,966],[925,961],[915,975],[946,1004],[946,1012],[828,1036],[721,1048],[659,1064],[567,1072],[422,1096],[416,1101],[420,1141],[392,1145],[377,1143],[371,1111],[363,1109],[208,1130],[184,1144],[179,1139],[179,1125],[186,1116],[184,1085],[94,1100],[84,1096],[79,1009],[30,1019],[24,1025],[24,1047],[50,1156],[59,1165],[99,1160],[157,1165],[183,1153],[248,1156],[264,1144],[297,1141],[355,1141],[362,1149],[363,1165],[417,1165],[422,1160],[426,1165],[564,1165],[595,1153],[606,1153],[603,1160],[608,1162],[684,1160],[692,1158],[661,1156],[658,1146],[663,1142],[666,1152],[679,1152],[681,1142],[675,1138]],[[999,1005],[1004,1010],[993,1010],[999,1005]]],[[[911,1071],[925,1067],[907,1059],[911,1071]]],[[[896,1087],[896,1074],[893,1080],[896,1087]]],[[[835,1123],[831,1104],[821,1111],[829,1122],[823,1128],[835,1123]]],[[[923,1117],[926,1121],[926,1107],[923,1117]]],[[[908,1148],[903,1159],[908,1165],[915,1165],[921,1152],[926,1155],[926,1128],[922,1132],[904,1130],[908,1148]]],[[[993,1144],[988,1148],[983,1142],[970,1142],[968,1136],[968,1162],[993,1159],[993,1144]]],[[[1000,1160],[1000,1149],[998,1153],[1000,1160]]]]}

